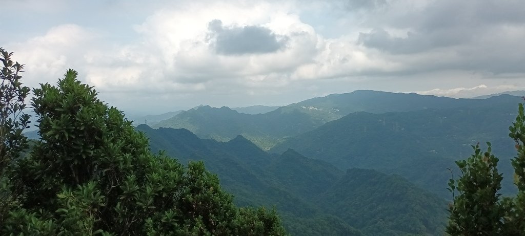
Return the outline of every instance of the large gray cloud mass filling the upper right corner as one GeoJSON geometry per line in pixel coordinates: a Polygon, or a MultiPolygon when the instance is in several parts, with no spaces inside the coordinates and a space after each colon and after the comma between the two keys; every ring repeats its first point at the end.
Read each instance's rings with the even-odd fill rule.
{"type": "Polygon", "coordinates": [[[373,30],[361,31],[356,42],[379,51],[377,57],[401,62],[403,67],[395,73],[525,73],[523,1],[438,0],[417,7],[407,2],[388,4],[365,16],[364,28],[373,30]]]}

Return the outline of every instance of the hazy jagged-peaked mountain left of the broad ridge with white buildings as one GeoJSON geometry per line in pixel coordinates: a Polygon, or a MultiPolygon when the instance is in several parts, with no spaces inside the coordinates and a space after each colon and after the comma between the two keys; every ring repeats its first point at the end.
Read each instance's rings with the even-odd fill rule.
{"type": "Polygon", "coordinates": [[[152,127],[186,128],[199,137],[218,141],[228,141],[240,134],[262,148],[269,148],[282,142],[283,138],[301,133],[301,130],[312,130],[321,124],[308,114],[297,110],[284,111],[282,107],[253,115],[238,113],[227,106],[212,108],[206,105],[181,112],[152,127]]]}

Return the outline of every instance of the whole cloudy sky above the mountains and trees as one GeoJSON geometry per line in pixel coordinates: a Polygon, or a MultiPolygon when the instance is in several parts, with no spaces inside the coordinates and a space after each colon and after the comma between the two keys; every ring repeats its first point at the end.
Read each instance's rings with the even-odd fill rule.
{"type": "Polygon", "coordinates": [[[525,90],[522,0],[0,1],[0,47],[25,85],[72,68],[135,114],[525,90]]]}

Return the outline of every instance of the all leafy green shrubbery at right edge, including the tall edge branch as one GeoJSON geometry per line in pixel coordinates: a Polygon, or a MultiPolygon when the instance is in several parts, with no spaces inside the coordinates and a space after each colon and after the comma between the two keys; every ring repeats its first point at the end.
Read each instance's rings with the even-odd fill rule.
{"type": "MultiPolygon", "coordinates": [[[[524,98],[525,99],[525,98],[524,98]]],[[[450,235],[525,235],[525,115],[523,104],[518,106],[516,122],[509,127],[509,136],[516,142],[517,156],[512,159],[514,184],[518,187],[515,198],[501,198],[499,190],[503,179],[498,173],[499,159],[474,147],[474,155],[456,161],[461,176],[450,179],[448,186],[453,194],[449,207],[450,235]],[[455,196],[455,190],[459,195],[455,196]]]]}

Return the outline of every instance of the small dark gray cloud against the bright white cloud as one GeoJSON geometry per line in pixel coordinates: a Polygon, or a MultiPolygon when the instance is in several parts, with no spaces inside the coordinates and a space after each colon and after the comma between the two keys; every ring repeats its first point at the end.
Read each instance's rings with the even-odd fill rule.
{"type": "Polygon", "coordinates": [[[218,20],[208,24],[209,37],[217,53],[222,55],[244,55],[275,52],[286,47],[288,40],[270,29],[260,26],[224,27],[218,20]]]}

